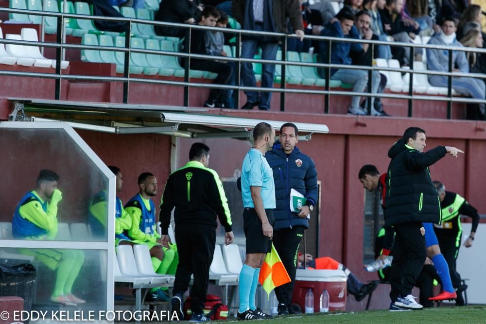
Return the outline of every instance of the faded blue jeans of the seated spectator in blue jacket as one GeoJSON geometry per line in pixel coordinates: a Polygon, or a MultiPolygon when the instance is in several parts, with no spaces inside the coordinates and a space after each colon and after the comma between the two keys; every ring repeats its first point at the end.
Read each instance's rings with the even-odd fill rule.
{"type": "MultiPolygon", "coordinates": [[[[366,70],[354,70],[348,68],[338,69],[332,76],[332,80],[341,80],[344,83],[353,85],[353,92],[363,92],[368,85],[368,71],[366,70]]],[[[380,82],[382,77],[378,71],[373,71],[373,83],[371,85],[371,93],[378,93],[380,82]]],[[[360,106],[360,96],[351,97],[351,108],[360,106]]],[[[371,107],[374,107],[375,97],[371,97],[371,107]]],[[[367,101],[366,101],[367,106],[367,101]]],[[[372,108],[374,109],[374,108],[372,108]]]]}

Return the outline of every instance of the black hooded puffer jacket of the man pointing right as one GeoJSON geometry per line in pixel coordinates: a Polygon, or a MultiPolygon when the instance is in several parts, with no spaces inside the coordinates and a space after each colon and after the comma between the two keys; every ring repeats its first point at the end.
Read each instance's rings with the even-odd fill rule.
{"type": "Polygon", "coordinates": [[[409,222],[441,222],[440,201],[429,166],[446,155],[444,146],[425,153],[406,146],[403,139],[388,151],[392,160],[386,182],[385,226],[409,222]]]}

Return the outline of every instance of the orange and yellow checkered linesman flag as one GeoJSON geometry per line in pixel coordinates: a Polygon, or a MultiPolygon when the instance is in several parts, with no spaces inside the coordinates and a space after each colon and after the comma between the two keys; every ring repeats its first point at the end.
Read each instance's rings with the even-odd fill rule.
{"type": "Polygon", "coordinates": [[[267,292],[268,298],[270,298],[270,292],[272,292],[275,287],[285,285],[291,281],[273,243],[272,252],[267,253],[265,262],[263,262],[263,265],[261,266],[258,281],[263,286],[263,290],[267,292]]]}

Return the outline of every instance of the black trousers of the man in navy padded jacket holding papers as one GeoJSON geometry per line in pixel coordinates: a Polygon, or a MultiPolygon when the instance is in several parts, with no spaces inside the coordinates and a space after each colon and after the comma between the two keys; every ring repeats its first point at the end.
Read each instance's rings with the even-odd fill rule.
{"type": "Polygon", "coordinates": [[[295,286],[295,274],[297,271],[297,258],[300,240],[304,235],[304,226],[294,226],[274,231],[273,244],[278,256],[289,273],[291,282],[275,288],[278,303],[290,304],[292,302],[292,292],[295,286]]]}

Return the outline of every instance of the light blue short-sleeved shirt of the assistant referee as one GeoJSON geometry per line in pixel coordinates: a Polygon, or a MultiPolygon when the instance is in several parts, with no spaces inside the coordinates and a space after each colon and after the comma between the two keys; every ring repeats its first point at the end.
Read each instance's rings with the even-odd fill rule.
{"type": "Polygon", "coordinates": [[[257,149],[246,153],[242,166],[243,207],[255,208],[251,199],[250,186],[261,187],[261,199],[265,209],[275,209],[275,184],[272,168],[265,156],[257,149]]]}

